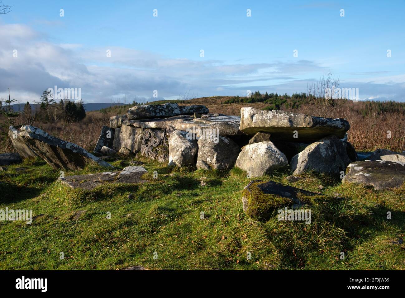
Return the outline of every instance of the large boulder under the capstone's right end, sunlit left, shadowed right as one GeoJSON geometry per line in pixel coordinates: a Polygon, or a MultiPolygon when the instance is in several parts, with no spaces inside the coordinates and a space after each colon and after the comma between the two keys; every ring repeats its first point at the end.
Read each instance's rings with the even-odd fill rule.
{"type": "Polygon", "coordinates": [[[326,173],[333,176],[340,175],[352,162],[347,155],[346,148],[347,143],[339,140],[336,136],[323,138],[312,143],[292,158],[290,164],[293,175],[305,171],[326,173]]]}

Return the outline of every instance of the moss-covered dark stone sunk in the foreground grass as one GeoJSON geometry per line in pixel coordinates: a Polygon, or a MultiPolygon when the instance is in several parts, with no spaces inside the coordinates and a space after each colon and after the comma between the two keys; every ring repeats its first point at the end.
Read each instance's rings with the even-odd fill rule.
{"type": "Polygon", "coordinates": [[[326,196],[274,181],[250,181],[242,192],[243,211],[255,220],[268,220],[284,208],[300,208],[326,196]]]}

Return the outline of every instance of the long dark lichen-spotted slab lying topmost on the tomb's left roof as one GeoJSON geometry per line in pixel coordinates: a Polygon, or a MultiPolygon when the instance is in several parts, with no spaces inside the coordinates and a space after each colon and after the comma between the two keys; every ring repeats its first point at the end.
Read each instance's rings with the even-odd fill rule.
{"type": "Polygon", "coordinates": [[[194,113],[208,113],[206,106],[202,104],[193,104],[191,106],[179,106],[175,103],[167,104],[142,104],[134,106],[128,110],[128,120],[132,119],[148,119],[148,118],[164,118],[177,115],[193,115],[194,113]]]}

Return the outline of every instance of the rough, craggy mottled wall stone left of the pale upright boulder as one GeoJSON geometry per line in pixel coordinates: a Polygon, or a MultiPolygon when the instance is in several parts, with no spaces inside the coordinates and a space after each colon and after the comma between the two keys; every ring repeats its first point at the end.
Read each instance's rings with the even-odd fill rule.
{"type": "Polygon", "coordinates": [[[167,162],[169,158],[168,134],[164,129],[146,129],[143,131],[141,155],[158,162],[167,162]]]}

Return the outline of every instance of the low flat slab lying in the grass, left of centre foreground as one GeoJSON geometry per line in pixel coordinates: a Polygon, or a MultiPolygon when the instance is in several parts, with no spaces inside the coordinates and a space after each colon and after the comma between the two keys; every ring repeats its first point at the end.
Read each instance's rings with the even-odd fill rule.
{"type": "Polygon", "coordinates": [[[141,166],[128,166],[121,172],[102,172],[97,174],[67,176],[59,178],[58,180],[73,189],[80,188],[91,190],[105,183],[145,183],[148,181],[141,178],[145,173],[147,173],[147,170],[141,166]]]}

